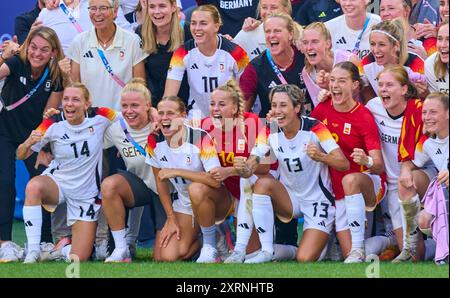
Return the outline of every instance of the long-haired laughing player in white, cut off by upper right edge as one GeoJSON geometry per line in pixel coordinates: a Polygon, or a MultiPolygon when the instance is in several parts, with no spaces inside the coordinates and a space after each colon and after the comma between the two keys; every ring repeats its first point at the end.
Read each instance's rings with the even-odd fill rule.
{"type": "Polygon", "coordinates": [[[425,75],[430,92],[449,94],[448,62],[449,62],[449,25],[444,22],[438,31],[437,52],[425,61],[425,75]]]}

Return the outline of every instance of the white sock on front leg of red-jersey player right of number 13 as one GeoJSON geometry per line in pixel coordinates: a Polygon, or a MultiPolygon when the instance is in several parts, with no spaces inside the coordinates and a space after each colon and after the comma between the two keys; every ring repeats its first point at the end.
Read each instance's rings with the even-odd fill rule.
{"type": "Polygon", "coordinates": [[[361,193],[345,196],[345,209],[352,234],[352,249],[364,249],[366,203],[361,193]]]}

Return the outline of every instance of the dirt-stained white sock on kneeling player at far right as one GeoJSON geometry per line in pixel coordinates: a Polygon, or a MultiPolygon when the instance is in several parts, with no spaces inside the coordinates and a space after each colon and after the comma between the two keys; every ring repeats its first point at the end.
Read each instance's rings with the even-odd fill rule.
{"type": "Polygon", "coordinates": [[[417,246],[417,214],[420,210],[419,195],[409,200],[400,201],[400,214],[403,226],[403,248],[415,253],[417,246]]]}

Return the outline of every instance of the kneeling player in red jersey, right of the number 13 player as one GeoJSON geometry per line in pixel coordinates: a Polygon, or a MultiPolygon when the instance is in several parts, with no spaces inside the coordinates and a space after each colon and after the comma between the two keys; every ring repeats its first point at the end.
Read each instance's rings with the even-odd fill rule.
{"type": "Polygon", "coordinates": [[[351,62],[338,63],[330,74],[331,100],[320,103],[312,113],[350,160],[350,170],[330,169],[336,232],[346,263],[364,262],[365,211],[375,209],[386,188],[378,128],[369,110],[353,98],[359,85],[358,68],[351,62]]]}

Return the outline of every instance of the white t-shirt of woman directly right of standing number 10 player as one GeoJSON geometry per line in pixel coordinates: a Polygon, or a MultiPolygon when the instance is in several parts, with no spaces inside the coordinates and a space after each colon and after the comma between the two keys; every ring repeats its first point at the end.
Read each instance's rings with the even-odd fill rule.
{"type": "Polygon", "coordinates": [[[244,49],[250,61],[267,49],[264,24],[259,25],[258,28],[253,31],[239,31],[233,40],[244,49]]]}

